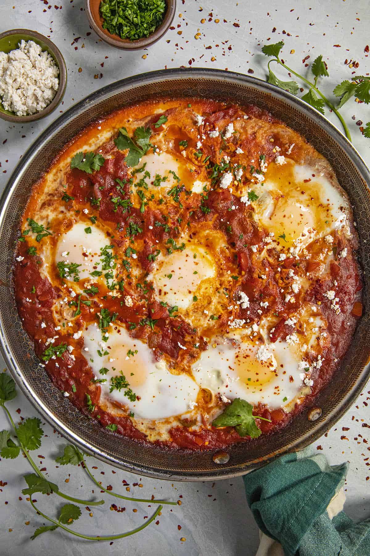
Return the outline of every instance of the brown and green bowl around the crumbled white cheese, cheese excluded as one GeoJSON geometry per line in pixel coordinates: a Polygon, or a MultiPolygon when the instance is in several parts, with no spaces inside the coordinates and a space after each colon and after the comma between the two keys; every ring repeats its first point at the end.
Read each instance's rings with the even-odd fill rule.
{"type": "Polygon", "coordinates": [[[12,29],[11,31],[5,31],[0,33],[0,51],[10,52],[18,48],[18,44],[22,41],[33,41],[38,44],[43,51],[47,51],[54,59],[59,69],[59,88],[57,94],[53,98],[52,102],[35,114],[29,116],[16,116],[14,112],[9,110],[4,110],[1,98],[0,98],[0,118],[13,123],[24,123],[24,122],[34,122],[35,120],[40,120],[45,116],[48,116],[50,112],[53,112],[55,108],[62,101],[64,96],[65,87],[67,86],[67,68],[65,67],[64,58],[59,49],[55,44],[50,41],[44,35],[37,33],[36,31],[30,31],[29,29],[12,29]]]}

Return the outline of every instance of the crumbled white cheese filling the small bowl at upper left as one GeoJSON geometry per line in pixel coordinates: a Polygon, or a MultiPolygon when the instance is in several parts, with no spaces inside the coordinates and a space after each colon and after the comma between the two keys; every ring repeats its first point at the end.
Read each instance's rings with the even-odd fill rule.
{"type": "Polygon", "coordinates": [[[57,94],[59,69],[52,56],[33,41],[0,52],[0,98],[5,110],[28,116],[44,110],[57,94]]]}

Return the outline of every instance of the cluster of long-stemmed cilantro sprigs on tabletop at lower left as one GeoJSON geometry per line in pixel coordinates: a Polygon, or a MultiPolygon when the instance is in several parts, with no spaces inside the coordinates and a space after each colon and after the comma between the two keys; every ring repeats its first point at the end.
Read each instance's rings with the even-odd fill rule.
{"type": "Polygon", "coordinates": [[[21,453],[21,451],[23,452],[24,456],[26,456],[29,463],[31,464],[34,473],[27,473],[26,475],[24,475],[24,480],[27,483],[27,488],[24,488],[22,490],[22,494],[29,497],[27,499],[29,500],[29,503],[32,505],[33,509],[38,515],[41,515],[45,520],[52,523],[52,525],[42,525],[41,527],[38,527],[34,531],[31,537],[32,540],[36,539],[40,534],[52,532],[58,528],[64,529],[66,532],[76,537],[80,537],[87,540],[102,541],[102,540],[114,540],[123,537],[128,537],[129,535],[138,533],[145,527],[148,527],[148,525],[151,522],[153,522],[154,519],[157,517],[157,515],[160,513],[161,509],[163,509],[162,504],[176,505],[176,502],[168,502],[166,500],[155,500],[154,498],[141,499],[141,498],[125,497],[121,494],[115,493],[111,490],[104,488],[104,486],[100,484],[97,481],[97,479],[94,478],[91,471],[89,470],[87,463],[85,461],[85,454],[81,453],[78,450],[78,448],[76,448],[75,446],[67,445],[64,448],[63,455],[55,459],[56,463],[58,463],[59,465],[71,464],[77,466],[82,464],[83,468],[87,471],[88,475],[94,481],[95,485],[97,485],[100,490],[104,490],[105,493],[114,496],[115,498],[122,498],[124,500],[130,500],[131,502],[160,504],[159,507],[154,512],[154,514],[151,515],[151,517],[146,522],[144,522],[143,525],[140,525],[140,527],[137,527],[125,533],[119,533],[116,535],[107,535],[104,537],[102,535],[97,535],[97,536],[85,535],[82,533],[78,533],[73,529],[70,529],[70,525],[72,525],[73,522],[79,519],[80,516],[82,515],[80,508],[76,504],[81,504],[84,506],[87,505],[96,506],[96,505],[104,504],[104,500],[98,500],[98,501],[82,500],[79,498],[70,497],[69,495],[62,493],[59,490],[57,484],[53,483],[43,475],[42,471],[39,470],[37,464],[34,462],[32,456],[29,454],[29,451],[40,448],[41,439],[44,434],[43,430],[40,428],[41,421],[37,418],[28,418],[24,420],[21,423],[21,425],[17,427],[14,424],[11,413],[9,412],[8,408],[5,406],[5,404],[8,401],[11,401],[15,397],[16,397],[16,388],[15,388],[14,380],[11,378],[11,376],[9,376],[6,373],[0,374],[0,406],[3,406],[4,411],[6,411],[8,419],[14,430],[14,434],[18,439],[17,443],[15,443],[12,440],[11,433],[9,431],[7,430],[1,431],[0,432],[0,456],[4,460],[14,459],[17,458],[17,456],[21,453]],[[32,499],[32,495],[35,493],[46,494],[46,495],[57,494],[59,497],[62,497],[68,500],[69,502],[67,504],[64,504],[62,508],[59,509],[58,518],[54,519],[49,515],[44,514],[39,508],[36,507],[36,505],[34,504],[36,500],[32,499]]]}

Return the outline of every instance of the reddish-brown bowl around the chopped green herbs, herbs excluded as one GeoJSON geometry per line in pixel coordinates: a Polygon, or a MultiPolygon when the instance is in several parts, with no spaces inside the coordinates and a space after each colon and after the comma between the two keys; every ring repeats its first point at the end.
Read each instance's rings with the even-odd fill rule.
{"type": "Polygon", "coordinates": [[[116,34],[111,34],[107,29],[103,29],[103,18],[100,16],[99,6],[102,0],[85,0],[85,10],[89,19],[90,26],[94,29],[95,33],[99,35],[103,41],[108,42],[111,46],[116,48],[123,48],[124,50],[140,50],[146,48],[159,41],[166,33],[167,29],[173,22],[176,12],[176,0],[166,0],[167,9],[165,11],[162,23],[155,29],[149,37],[139,38],[136,41],[120,38],[116,34]]]}

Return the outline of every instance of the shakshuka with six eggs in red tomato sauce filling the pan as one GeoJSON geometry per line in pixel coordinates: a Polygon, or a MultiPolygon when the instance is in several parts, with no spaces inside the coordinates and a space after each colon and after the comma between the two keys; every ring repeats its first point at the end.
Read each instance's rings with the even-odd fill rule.
{"type": "Polygon", "coordinates": [[[346,193],[256,106],[148,101],[95,122],[35,183],[18,240],[40,366],[107,434],[169,448],[287,426],[362,312],[346,193]]]}

